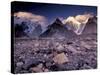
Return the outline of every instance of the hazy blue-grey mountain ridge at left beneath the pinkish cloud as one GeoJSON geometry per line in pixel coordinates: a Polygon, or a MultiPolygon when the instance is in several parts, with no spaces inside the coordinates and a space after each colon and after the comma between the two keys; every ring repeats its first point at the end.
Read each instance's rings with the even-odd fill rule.
{"type": "Polygon", "coordinates": [[[26,29],[22,30],[22,32],[18,32],[19,28],[18,27],[16,28],[15,33],[17,31],[18,37],[37,37],[42,33],[42,27],[38,22],[33,23],[29,19],[17,16],[13,16],[13,19],[14,19],[14,27],[17,26],[20,26],[22,28],[24,28],[24,26],[27,27],[26,29]]]}

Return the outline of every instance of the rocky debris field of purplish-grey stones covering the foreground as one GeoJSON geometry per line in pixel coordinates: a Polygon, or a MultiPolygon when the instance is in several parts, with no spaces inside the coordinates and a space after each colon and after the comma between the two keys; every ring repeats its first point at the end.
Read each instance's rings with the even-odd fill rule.
{"type": "Polygon", "coordinates": [[[15,39],[14,73],[37,73],[97,68],[95,37],[15,39]]]}

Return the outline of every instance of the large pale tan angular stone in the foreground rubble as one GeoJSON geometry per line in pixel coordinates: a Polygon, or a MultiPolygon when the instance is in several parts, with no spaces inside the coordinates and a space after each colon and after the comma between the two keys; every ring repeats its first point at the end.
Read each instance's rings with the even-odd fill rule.
{"type": "Polygon", "coordinates": [[[64,53],[57,54],[53,58],[53,61],[57,64],[63,64],[63,63],[69,62],[68,57],[64,53]]]}

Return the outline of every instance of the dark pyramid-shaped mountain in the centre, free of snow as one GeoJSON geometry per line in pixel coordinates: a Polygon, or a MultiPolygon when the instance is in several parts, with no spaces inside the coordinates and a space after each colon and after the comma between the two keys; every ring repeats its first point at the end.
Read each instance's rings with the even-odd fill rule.
{"type": "Polygon", "coordinates": [[[72,30],[68,30],[58,18],[40,35],[40,37],[53,38],[72,38],[73,36],[76,36],[76,34],[72,30]]]}

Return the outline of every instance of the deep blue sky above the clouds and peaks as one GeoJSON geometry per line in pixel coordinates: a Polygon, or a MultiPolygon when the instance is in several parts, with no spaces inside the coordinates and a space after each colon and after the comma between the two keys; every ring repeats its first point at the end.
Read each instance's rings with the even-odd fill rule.
{"type": "Polygon", "coordinates": [[[69,16],[84,14],[86,12],[97,15],[96,6],[12,2],[11,8],[12,8],[11,13],[29,12],[32,14],[46,17],[48,22],[52,22],[56,18],[67,18],[69,16]]]}

